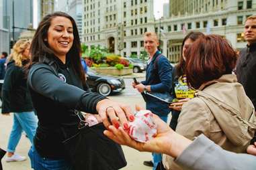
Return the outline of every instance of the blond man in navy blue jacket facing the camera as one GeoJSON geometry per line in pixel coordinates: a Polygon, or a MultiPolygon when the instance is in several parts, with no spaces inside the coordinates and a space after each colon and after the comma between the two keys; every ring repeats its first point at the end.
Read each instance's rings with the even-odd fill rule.
{"type": "MultiPolygon", "coordinates": [[[[132,83],[138,92],[171,92],[172,66],[165,56],[157,50],[159,40],[155,32],[144,33],[144,48],[148,52],[149,59],[146,66],[146,80],[140,84],[132,83]]],[[[146,109],[157,114],[162,120],[167,122],[167,116],[171,111],[169,104],[156,98],[146,95],[146,109]]],[[[153,153],[153,169],[162,160],[161,154],[153,153]]],[[[148,161],[144,161],[146,165],[148,161]]]]}

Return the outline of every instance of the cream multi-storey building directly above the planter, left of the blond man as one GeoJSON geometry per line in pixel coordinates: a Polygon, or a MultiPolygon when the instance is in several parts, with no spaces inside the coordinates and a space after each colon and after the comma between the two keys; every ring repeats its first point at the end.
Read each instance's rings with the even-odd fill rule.
{"type": "Polygon", "coordinates": [[[83,0],[83,41],[110,52],[140,55],[143,34],[154,31],[153,0],[83,0]]]}

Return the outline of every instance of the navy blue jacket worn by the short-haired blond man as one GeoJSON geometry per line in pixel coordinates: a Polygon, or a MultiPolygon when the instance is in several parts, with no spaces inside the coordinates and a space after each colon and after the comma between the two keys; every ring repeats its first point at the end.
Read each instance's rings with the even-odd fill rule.
{"type": "MultiPolygon", "coordinates": [[[[150,85],[152,92],[170,92],[172,90],[173,67],[167,58],[157,51],[151,62],[146,66],[146,80],[141,83],[150,85]],[[159,58],[157,59],[157,57],[159,58]],[[157,59],[157,60],[156,60],[157,59]]],[[[167,116],[171,111],[169,104],[146,95],[146,109],[158,116],[167,116]]]]}

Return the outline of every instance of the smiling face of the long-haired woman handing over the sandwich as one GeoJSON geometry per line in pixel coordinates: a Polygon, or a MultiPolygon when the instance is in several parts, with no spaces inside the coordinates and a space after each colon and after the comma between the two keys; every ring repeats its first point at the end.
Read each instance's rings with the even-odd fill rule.
{"type": "Polygon", "coordinates": [[[50,22],[47,41],[58,58],[65,58],[73,45],[73,25],[67,17],[54,17],[50,22]]]}

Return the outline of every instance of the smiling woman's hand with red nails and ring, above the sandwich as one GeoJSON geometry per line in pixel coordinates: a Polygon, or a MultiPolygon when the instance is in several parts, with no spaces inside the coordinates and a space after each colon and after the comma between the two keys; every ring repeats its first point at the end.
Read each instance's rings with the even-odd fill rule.
{"type": "Polygon", "coordinates": [[[111,124],[114,124],[116,128],[121,124],[124,129],[128,129],[128,120],[134,120],[134,115],[132,114],[130,106],[113,102],[109,99],[100,100],[97,103],[96,110],[99,113],[99,116],[101,116],[102,122],[107,129],[111,124]]]}

